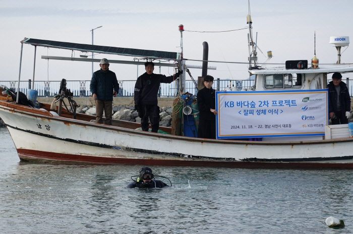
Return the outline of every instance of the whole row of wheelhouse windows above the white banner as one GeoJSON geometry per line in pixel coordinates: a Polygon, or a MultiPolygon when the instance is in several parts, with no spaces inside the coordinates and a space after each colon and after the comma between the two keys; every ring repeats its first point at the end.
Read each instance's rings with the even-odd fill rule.
{"type": "Polygon", "coordinates": [[[302,86],[302,74],[273,74],[266,75],[266,89],[287,89],[302,86]]]}

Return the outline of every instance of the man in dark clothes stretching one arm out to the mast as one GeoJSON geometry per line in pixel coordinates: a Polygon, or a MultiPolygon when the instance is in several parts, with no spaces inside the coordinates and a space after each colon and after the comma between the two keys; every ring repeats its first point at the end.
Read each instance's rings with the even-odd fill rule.
{"type": "Polygon", "coordinates": [[[165,76],[153,73],[154,63],[145,62],[146,72],[140,75],[135,84],[135,108],[141,118],[141,128],[148,132],[148,119],[151,121],[152,132],[158,132],[159,107],[157,94],[160,83],[172,83],[183,71],[175,75],[165,76]]]}

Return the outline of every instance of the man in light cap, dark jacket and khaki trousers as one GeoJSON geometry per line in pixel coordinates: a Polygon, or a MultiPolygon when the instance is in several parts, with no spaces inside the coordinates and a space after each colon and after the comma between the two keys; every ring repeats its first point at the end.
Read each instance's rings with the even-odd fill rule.
{"type": "Polygon", "coordinates": [[[104,110],[104,123],[111,125],[113,97],[116,97],[119,92],[119,84],[115,73],[109,70],[108,59],[102,58],[99,66],[100,69],[93,73],[91,85],[89,86],[96,104],[96,123],[103,123],[104,110]]]}

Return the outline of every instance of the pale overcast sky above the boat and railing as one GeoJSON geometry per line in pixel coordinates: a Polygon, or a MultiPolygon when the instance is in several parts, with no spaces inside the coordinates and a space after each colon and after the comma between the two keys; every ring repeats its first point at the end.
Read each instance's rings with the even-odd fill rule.
{"type": "MultiPolygon", "coordinates": [[[[316,55],[320,63],[334,63],[337,51],[329,44],[330,36],[349,36],[353,40],[353,2],[351,0],[311,1],[252,0],[253,33],[264,55],[258,51],[259,62],[271,50],[271,62],[307,59],[316,55]]],[[[184,25],[190,31],[225,31],[247,27],[248,1],[5,1],[0,0],[0,81],[18,80],[21,43],[25,37],[92,43],[136,49],[180,52],[180,32],[184,25]]],[[[209,60],[246,62],[248,30],[225,33],[184,32],[184,57],[202,59],[204,41],[209,45],[209,60]]],[[[255,39],[255,38],[254,38],[255,39]]],[[[344,50],[344,47],[342,50],[344,50]]],[[[41,55],[79,57],[80,52],[37,48],[35,79],[37,81],[91,80],[91,62],[41,59],[41,55]]],[[[133,57],[96,54],[94,58],[132,60],[133,57]]],[[[21,80],[32,79],[34,46],[23,46],[21,80]]],[[[352,48],[342,54],[342,61],[353,62],[352,48]]],[[[187,64],[201,65],[188,61],[187,64]]],[[[217,70],[208,74],[220,79],[243,80],[249,76],[245,64],[209,63],[217,70]]],[[[94,70],[98,70],[98,63],[94,70]]],[[[117,79],[136,80],[137,66],[111,64],[117,79]]],[[[144,72],[139,66],[139,75],[144,72]]],[[[201,69],[191,69],[193,77],[201,69]]],[[[159,68],[155,68],[159,73],[159,68]]],[[[172,74],[172,68],[161,68],[172,74]]],[[[349,76],[349,74],[348,74],[349,76]]],[[[351,77],[352,78],[352,77],[351,77]]],[[[187,75],[187,79],[190,77],[187,75]]]]}

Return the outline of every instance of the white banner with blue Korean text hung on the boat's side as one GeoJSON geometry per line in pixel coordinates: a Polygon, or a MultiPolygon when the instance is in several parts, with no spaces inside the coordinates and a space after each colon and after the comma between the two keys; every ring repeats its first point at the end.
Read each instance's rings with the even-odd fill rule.
{"type": "Polygon", "coordinates": [[[322,136],[328,125],[324,90],[216,92],[217,139],[322,136]]]}

